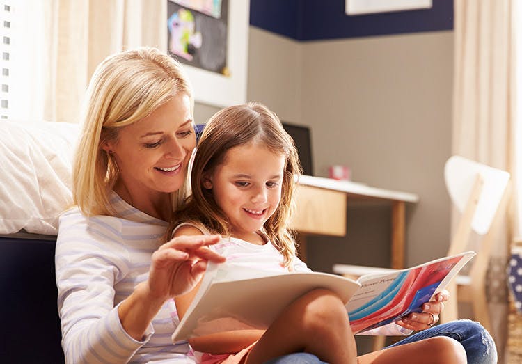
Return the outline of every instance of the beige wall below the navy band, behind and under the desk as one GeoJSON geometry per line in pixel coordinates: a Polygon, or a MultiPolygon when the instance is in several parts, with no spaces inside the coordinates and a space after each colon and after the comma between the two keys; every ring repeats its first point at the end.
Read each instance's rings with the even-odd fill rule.
{"type": "MultiPolygon", "coordinates": [[[[417,193],[420,203],[408,206],[407,264],[444,255],[453,33],[294,42],[251,26],[249,44],[248,99],[310,126],[315,175],[345,164],[356,182],[417,193]]],[[[308,239],[310,266],[386,265],[389,219],[386,206],[349,207],[346,238],[308,239]]]]}

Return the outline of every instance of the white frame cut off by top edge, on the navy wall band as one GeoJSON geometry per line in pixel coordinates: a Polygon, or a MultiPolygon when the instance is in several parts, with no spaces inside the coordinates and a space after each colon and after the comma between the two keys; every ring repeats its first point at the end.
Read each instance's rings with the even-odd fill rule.
{"type": "Polygon", "coordinates": [[[347,15],[389,13],[432,8],[432,0],[346,0],[347,15]]]}

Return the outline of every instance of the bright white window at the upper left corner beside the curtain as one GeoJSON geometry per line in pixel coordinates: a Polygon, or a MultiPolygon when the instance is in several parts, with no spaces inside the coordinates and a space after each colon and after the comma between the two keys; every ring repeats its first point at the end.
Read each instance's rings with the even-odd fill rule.
{"type": "Polygon", "coordinates": [[[54,49],[49,9],[51,1],[0,0],[0,120],[44,120],[45,82],[52,79],[48,58],[54,49]]]}

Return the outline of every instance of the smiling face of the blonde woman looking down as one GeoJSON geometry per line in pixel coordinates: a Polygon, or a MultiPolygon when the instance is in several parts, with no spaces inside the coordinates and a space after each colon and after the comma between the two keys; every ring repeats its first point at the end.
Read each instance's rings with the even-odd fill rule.
{"type": "Polygon", "coordinates": [[[115,191],[134,203],[177,191],[187,177],[195,147],[190,98],[180,93],[146,118],[123,127],[115,143],[104,145],[120,171],[115,191]]]}

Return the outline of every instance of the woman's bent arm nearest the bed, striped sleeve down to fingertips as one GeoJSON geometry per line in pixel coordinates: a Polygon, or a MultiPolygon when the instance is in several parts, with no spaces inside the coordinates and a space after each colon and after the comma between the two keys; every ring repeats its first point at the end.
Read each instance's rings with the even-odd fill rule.
{"type": "MultiPolygon", "coordinates": [[[[118,219],[86,219],[76,210],[61,216],[59,226],[56,284],[62,346],[67,363],[127,363],[150,338],[150,322],[159,310],[159,302],[164,302],[170,292],[175,294],[189,290],[192,283],[187,275],[203,274],[207,258],[216,262],[224,260],[208,249],[198,251],[204,245],[204,239],[191,242],[184,238],[177,241],[177,246],[189,252],[189,259],[192,257],[195,260],[197,257],[202,261],[194,266],[189,264],[188,269],[184,268],[184,264],[178,264],[180,269],[168,276],[164,268],[171,267],[169,257],[172,259],[175,252],[166,244],[161,248],[166,253],[155,253],[156,263],[155,267],[151,267],[149,277],[167,277],[171,286],[166,289],[165,283],[155,278],[152,278],[155,284],[150,284],[150,281],[141,283],[120,303],[123,306],[120,316],[120,306],[115,307],[115,301],[119,302],[122,298],[117,296],[114,287],[131,272],[131,264],[125,242],[114,232],[118,219]],[[196,253],[192,254],[187,244],[192,248],[198,247],[196,253]],[[165,291],[169,293],[158,294],[165,291]]],[[[163,231],[164,228],[159,226],[157,230],[148,232],[157,236],[163,231]]],[[[217,242],[219,237],[209,237],[209,241],[217,242]]]]}

